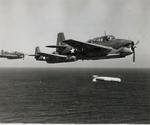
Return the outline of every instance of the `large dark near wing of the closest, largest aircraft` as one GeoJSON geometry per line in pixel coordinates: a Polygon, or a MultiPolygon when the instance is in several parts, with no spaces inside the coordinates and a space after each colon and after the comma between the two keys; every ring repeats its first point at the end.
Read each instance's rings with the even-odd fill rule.
{"type": "Polygon", "coordinates": [[[98,44],[92,44],[92,43],[84,43],[84,42],[80,42],[80,41],[76,41],[76,40],[65,40],[63,41],[64,43],[72,46],[75,49],[79,49],[79,50],[94,50],[94,49],[98,49],[100,51],[111,51],[112,48],[111,47],[107,47],[107,46],[102,46],[102,45],[98,45],[98,44]]]}

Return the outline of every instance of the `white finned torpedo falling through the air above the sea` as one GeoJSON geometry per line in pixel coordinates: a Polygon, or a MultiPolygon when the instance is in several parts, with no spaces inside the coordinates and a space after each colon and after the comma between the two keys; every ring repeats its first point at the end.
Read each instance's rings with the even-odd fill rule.
{"type": "Polygon", "coordinates": [[[97,82],[97,81],[121,82],[121,79],[117,78],[117,77],[106,77],[106,76],[93,75],[92,81],[93,82],[97,82]]]}

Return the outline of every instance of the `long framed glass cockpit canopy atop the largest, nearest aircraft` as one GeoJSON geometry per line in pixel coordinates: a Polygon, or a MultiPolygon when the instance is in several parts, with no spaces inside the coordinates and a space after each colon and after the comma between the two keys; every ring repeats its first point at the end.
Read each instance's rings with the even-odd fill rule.
{"type": "Polygon", "coordinates": [[[114,36],[107,35],[107,36],[101,36],[101,37],[96,37],[94,39],[90,39],[87,42],[88,43],[92,43],[92,42],[107,42],[107,41],[110,41],[110,40],[113,40],[113,39],[115,39],[114,36]]]}

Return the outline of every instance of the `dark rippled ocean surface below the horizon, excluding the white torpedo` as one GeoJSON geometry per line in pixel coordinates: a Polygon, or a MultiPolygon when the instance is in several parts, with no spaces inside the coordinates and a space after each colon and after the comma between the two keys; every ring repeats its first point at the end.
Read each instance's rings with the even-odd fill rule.
{"type": "Polygon", "coordinates": [[[150,123],[150,69],[1,68],[0,123],[150,123]]]}

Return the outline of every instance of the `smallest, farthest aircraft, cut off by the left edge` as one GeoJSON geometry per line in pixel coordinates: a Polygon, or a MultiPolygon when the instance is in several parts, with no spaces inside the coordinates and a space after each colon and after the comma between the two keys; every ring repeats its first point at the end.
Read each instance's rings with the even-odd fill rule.
{"type": "Polygon", "coordinates": [[[25,54],[24,53],[21,53],[21,52],[17,52],[17,51],[14,51],[14,52],[7,52],[7,51],[4,51],[4,50],[1,50],[1,53],[0,53],[0,58],[7,58],[7,59],[24,59],[25,57],[25,54]]]}

